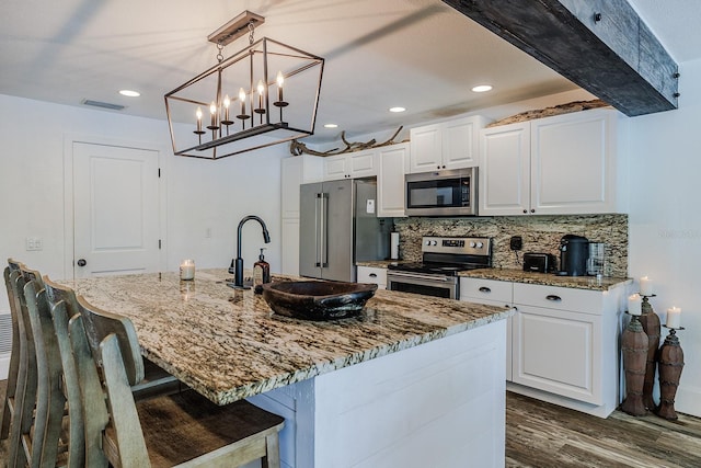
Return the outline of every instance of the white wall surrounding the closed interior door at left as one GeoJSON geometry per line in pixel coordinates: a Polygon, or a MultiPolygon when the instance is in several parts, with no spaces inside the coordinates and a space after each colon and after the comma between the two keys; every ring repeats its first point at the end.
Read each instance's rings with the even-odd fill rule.
{"type": "MultiPolygon", "coordinates": [[[[166,184],[168,252],[164,271],[176,271],[183,258],[197,267],[226,267],[235,256],[235,229],[249,214],[261,216],[271,231],[266,258],[273,271],[280,259],[280,163],[288,145],[206,161],[172,155],[165,121],[49,104],[0,94],[0,259],[12,256],[54,278],[64,271],[64,140],[79,134],[110,141],[143,142],[163,149],[166,184]],[[210,228],[211,237],[206,238],[210,228]],[[25,250],[25,238],[41,237],[44,249],[25,250]]],[[[243,230],[246,266],[263,247],[261,228],[243,230]]],[[[70,259],[70,256],[68,256],[70,259]]],[[[9,311],[0,288],[0,313],[9,311]]]]}

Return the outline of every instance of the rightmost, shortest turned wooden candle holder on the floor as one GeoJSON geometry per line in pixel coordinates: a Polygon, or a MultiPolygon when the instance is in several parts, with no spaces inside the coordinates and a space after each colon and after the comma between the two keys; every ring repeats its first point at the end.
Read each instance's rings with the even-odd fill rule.
{"type": "Polygon", "coordinates": [[[669,329],[669,334],[659,349],[659,407],[655,412],[669,421],[677,420],[675,397],[683,369],[683,351],[677,338],[677,330],[683,330],[683,327],[669,329]]]}

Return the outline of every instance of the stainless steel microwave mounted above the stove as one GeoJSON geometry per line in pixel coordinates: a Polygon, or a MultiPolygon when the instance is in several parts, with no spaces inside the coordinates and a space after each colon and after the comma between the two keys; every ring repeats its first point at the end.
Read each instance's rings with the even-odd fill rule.
{"type": "Polygon", "coordinates": [[[406,174],[407,216],[475,216],[478,168],[406,174]]]}

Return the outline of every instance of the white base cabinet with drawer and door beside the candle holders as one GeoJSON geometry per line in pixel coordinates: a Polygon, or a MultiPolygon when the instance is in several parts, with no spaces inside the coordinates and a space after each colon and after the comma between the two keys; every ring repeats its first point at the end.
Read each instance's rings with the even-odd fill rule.
{"type": "Polygon", "coordinates": [[[602,418],[610,414],[619,403],[622,289],[515,283],[513,381],[525,387],[513,389],[602,418]]]}

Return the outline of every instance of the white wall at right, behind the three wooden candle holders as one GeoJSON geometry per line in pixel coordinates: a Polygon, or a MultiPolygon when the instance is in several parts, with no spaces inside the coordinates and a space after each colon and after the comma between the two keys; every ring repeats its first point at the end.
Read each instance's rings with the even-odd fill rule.
{"type": "Polygon", "coordinates": [[[629,272],[655,282],[663,323],[667,308],[681,307],[675,408],[701,416],[701,60],[679,69],[679,110],[630,119],[629,272]]]}

